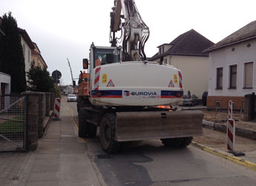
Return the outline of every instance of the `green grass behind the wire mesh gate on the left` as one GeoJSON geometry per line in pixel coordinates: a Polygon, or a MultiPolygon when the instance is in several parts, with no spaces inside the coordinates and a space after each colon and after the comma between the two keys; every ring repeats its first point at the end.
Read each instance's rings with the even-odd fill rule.
{"type": "Polygon", "coordinates": [[[24,116],[16,116],[12,118],[13,120],[4,121],[0,123],[0,134],[1,133],[11,133],[11,132],[24,132],[24,116]]]}

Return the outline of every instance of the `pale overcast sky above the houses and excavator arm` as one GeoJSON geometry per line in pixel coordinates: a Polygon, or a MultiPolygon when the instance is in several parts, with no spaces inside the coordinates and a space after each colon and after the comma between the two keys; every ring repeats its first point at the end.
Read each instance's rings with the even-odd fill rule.
{"type": "MultiPolygon", "coordinates": [[[[11,11],[41,50],[50,74],[62,72],[62,83],[71,83],[89,57],[92,42],[108,46],[111,7],[114,0],[0,0],[0,15],[11,11]]],[[[135,0],[151,35],[145,44],[147,57],[157,46],[170,43],[194,29],[214,43],[256,20],[255,0],[135,0]]]]}

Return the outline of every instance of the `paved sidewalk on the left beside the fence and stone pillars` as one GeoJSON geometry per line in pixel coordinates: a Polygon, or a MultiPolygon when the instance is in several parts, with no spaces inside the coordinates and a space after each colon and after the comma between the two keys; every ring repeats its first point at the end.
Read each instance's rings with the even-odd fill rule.
{"type": "Polygon", "coordinates": [[[101,185],[87,144],[76,133],[68,105],[62,101],[60,120],[50,121],[37,151],[0,154],[0,185],[101,185]]]}

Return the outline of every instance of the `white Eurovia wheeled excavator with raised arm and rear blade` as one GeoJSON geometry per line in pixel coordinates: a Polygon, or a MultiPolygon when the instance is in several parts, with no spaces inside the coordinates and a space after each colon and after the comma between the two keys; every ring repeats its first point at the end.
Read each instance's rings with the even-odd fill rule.
{"type": "Polygon", "coordinates": [[[87,89],[77,104],[79,137],[96,137],[99,127],[106,153],[137,140],[156,139],[166,147],[186,147],[203,133],[202,111],[174,108],[183,101],[182,72],[163,60],[147,61],[144,48],[149,35],[134,0],[115,0],[111,47],[92,43],[89,60],[83,60],[88,73],[80,75],[87,89]]]}

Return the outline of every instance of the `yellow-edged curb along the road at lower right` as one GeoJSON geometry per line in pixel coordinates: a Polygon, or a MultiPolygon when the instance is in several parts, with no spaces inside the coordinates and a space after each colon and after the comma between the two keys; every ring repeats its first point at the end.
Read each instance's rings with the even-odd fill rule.
{"type": "Polygon", "coordinates": [[[231,162],[234,162],[234,163],[236,163],[238,165],[242,165],[243,167],[250,168],[253,171],[256,171],[256,164],[255,163],[246,161],[244,159],[237,158],[235,156],[231,156],[229,154],[225,154],[223,152],[215,150],[214,148],[209,148],[209,147],[207,147],[205,145],[202,145],[202,144],[199,144],[197,142],[191,142],[191,145],[193,145],[194,147],[200,148],[203,151],[206,151],[206,152],[209,152],[211,154],[220,156],[220,157],[222,157],[224,159],[228,159],[231,162]]]}

